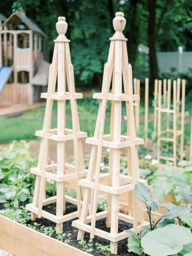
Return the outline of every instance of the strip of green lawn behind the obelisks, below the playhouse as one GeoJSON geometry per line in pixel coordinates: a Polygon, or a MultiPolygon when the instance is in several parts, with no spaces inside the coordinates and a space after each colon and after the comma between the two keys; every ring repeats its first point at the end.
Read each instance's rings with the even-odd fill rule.
{"type": "MultiPolygon", "coordinates": [[[[99,101],[86,98],[77,101],[80,126],[82,131],[86,131],[88,136],[92,136],[95,129],[99,101]]],[[[187,109],[186,109],[187,110],[187,109]]],[[[39,107],[26,111],[19,117],[0,118],[0,143],[20,139],[34,139],[36,130],[41,130],[43,126],[45,107],[39,107]]],[[[144,103],[140,103],[140,115],[144,114],[144,103]]],[[[190,110],[189,110],[190,111],[190,110]]],[[[149,109],[153,113],[153,107],[149,109]]],[[[122,103],[122,116],[126,114],[125,102],[122,103]]],[[[69,101],[66,103],[66,127],[72,128],[69,101]]],[[[105,119],[105,133],[109,133],[110,125],[110,105],[107,105],[105,119]]],[[[53,105],[52,128],[57,127],[57,103],[53,105]]],[[[149,137],[152,136],[153,119],[149,120],[149,137]]],[[[122,120],[122,134],[126,133],[126,122],[122,120]]],[[[140,122],[139,136],[144,136],[144,123],[140,122]]],[[[185,145],[190,141],[190,123],[185,125],[185,145]]]]}

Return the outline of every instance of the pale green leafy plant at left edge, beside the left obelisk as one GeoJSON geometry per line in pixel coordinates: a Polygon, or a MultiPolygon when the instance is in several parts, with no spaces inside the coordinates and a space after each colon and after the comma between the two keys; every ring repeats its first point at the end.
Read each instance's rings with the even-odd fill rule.
{"type": "Polygon", "coordinates": [[[13,141],[0,152],[0,202],[5,207],[18,208],[21,202],[31,199],[35,176],[30,168],[37,164],[31,158],[29,148],[31,142],[13,141]]]}

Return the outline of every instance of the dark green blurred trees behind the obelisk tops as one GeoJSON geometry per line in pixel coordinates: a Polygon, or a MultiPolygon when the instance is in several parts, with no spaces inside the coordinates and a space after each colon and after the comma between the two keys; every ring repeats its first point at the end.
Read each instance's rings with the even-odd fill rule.
{"type": "Polygon", "coordinates": [[[57,17],[66,17],[77,86],[101,86],[116,11],[123,11],[127,20],[124,34],[134,76],[149,76],[149,71],[151,81],[160,76],[156,51],[177,51],[180,45],[184,51],[192,50],[188,0],[6,0],[1,3],[1,12],[8,17],[21,7],[49,36],[50,59],[57,17]],[[145,46],[144,51],[138,51],[139,45],[145,46]],[[149,54],[145,53],[146,46],[149,54]]]}

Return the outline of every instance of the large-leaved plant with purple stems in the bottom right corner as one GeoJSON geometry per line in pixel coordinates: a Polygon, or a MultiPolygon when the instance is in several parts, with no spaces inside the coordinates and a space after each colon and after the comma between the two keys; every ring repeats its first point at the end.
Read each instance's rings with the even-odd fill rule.
{"type": "Polygon", "coordinates": [[[173,203],[159,204],[158,199],[152,200],[152,193],[143,183],[137,182],[133,190],[134,196],[145,203],[149,215],[150,228],[142,227],[140,235],[132,230],[124,230],[131,236],[128,237],[128,252],[144,256],[168,256],[185,255],[192,253],[191,215],[192,209],[189,200],[191,199],[191,187],[186,186],[181,190],[183,203],[177,206],[173,203]],[[154,222],[151,212],[156,212],[158,207],[167,209],[161,218],[154,222]],[[175,223],[178,221],[179,225],[175,223]],[[181,238],[182,236],[182,238],[181,238]],[[187,251],[187,253],[185,253],[187,251]],[[179,253],[179,254],[178,254],[179,253]]]}

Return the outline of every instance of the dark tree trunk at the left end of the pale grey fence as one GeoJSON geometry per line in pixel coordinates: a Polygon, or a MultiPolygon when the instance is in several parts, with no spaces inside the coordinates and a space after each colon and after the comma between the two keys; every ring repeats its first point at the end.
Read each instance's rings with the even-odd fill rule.
{"type": "Polygon", "coordinates": [[[155,34],[155,19],[156,19],[156,0],[148,0],[149,20],[148,20],[148,46],[149,46],[149,68],[150,81],[153,83],[154,79],[158,78],[158,66],[156,57],[156,34],[155,34]]]}

